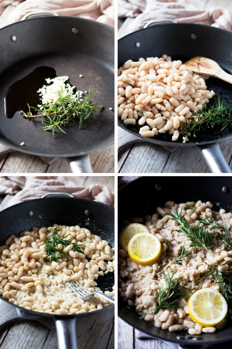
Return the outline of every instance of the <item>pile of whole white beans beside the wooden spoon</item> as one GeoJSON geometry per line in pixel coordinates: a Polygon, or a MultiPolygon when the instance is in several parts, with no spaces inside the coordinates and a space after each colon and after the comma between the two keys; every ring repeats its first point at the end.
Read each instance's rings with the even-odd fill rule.
{"type": "Polygon", "coordinates": [[[124,124],[142,126],[144,137],[169,132],[176,141],[180,124],[215,95],[205,79],[166,54],[128,60],[118,69],[118,116],[124,124]]]}

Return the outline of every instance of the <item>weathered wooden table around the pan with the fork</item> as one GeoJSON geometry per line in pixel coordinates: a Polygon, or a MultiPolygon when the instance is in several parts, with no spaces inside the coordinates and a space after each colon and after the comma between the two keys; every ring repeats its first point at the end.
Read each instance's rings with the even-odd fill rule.
{"type": "MultiPolygon", "coordinates": [[[[114,192],[114,177],[68,177],[79,186],[107,185],[114,192]]],[[[11,195],[0,204],[0,210],[10,206],[11,195]]],[[[114,348],[114,308],[77,320],[78,349],[114,348]]],[[[57,349],[55,322],[46,318],[19,317],[16,307],[0,300],[1,349],[57,349]],[[6,324],[7,322],[7,324],[6,324]]]]}

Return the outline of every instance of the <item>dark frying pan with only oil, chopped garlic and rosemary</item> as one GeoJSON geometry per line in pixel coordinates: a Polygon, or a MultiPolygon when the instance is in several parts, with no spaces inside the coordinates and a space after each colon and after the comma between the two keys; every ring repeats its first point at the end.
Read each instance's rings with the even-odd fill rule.
{"type": "Polygon", "coordinates": [[[32,18],[0,30],[0,52],[0,142],[27,154],[67,157],[74,170],[74,160],[87,157],[80,172],[93,172],[88,155],[114,143],[114,114],[109,109],[114,107],[114,29],[83,18],[32,18]],[[78,122],[71,122],[67,135],[56,132],[54,139],[42,129],[41,120],[30,122],[19,114],[6,118],[8,88],[41,66],[55,68],[57,76],[68,75],[81,91],[91,85],[91,101],[104,106],[83,122],[81,131],[78,122]]]}

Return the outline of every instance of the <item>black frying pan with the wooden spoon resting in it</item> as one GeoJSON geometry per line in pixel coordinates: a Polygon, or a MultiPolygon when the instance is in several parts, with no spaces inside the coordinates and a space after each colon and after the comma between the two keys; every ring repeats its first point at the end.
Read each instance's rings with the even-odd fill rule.
{"type": "MultiPolygon", "coordinates": [[[[118,41],[118,66],[128,59],[138,60],[140,57],[161,57],[168,54],[173,59],[186,62],[197,55],[215,60],[224,70],[232,74],[232,33],[226,30],[201,24],[172,23],[155,25],[133,32],[118,41]],[[139,44],[138,44],[139,43],[139,44]]],[[[222,80],[210,77],[207,80],[209,90],[224,99],[232,108],[232,85],[222,80]]],[[[144,138],[139,135],[135,127],[126,126],[121,119],[119,126],[136,135],[140,141],[147,141],[163,147],[192,148],[197,147],[204,156],[211,172],[231,172],[225,162],[217,142],[231,139],[231,129],[223,133],[218,130],[214,133],[206,132],[198,139],[185,144],[172,142],[167,139],[167,134],[154,138],[144,138]]]]}

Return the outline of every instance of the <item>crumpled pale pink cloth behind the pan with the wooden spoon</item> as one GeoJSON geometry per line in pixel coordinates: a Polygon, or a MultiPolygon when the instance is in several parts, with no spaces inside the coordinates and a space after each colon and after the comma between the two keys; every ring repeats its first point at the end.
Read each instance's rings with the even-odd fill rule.
{"type": "MultiPolygon", "coordinates": [[[[232,15],[227,9],[199,10],[198,1],[187,0],[118,0],[118,17],[135,18],[129,31],[141,29],[151,20],[171,18],[179,23],[199,23],[232,31],[232,15]]],[[[201,6],[202,7],[202,6],[201,6]]]]}

